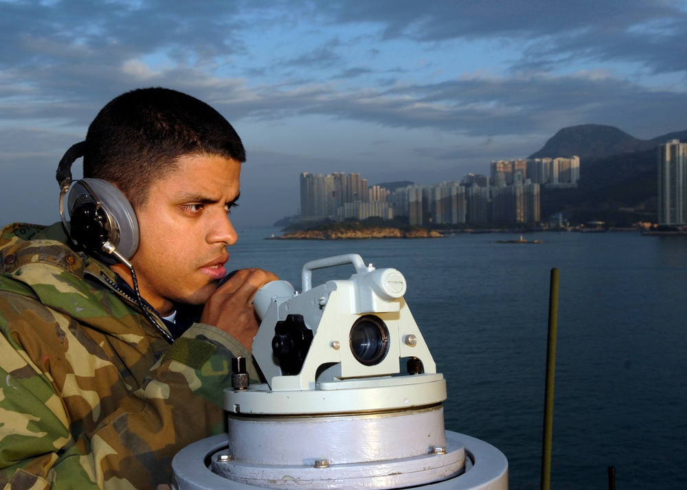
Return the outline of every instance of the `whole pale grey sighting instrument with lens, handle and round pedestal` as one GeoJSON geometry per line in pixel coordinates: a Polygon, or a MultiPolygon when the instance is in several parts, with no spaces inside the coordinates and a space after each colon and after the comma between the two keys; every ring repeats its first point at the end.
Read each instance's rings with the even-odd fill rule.
{"type": "Polygon", "coordinates": [[[253,342],[264,383],[233,361],[228,434],[181,450],[186,489],[508,488],[495,447],[444,430],[446,382],[403,296],[396,269],[359,255],[310,261],[302,292],[273,281],[256,294],[253,342]],[[351,264],[313,288],[313,270],[351,264]]]}

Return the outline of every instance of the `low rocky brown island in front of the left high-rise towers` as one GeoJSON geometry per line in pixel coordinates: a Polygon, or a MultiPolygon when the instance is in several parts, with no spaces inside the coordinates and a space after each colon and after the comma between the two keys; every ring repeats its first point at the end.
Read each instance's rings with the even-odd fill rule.
{"type": "Polygon", "coordinates": [[[328,223],[306,230],[291,231],[273,240],[359,240],[372,238],[438,238],[443,235],[424,226],[380,226],[376,224],[328,223]]]}

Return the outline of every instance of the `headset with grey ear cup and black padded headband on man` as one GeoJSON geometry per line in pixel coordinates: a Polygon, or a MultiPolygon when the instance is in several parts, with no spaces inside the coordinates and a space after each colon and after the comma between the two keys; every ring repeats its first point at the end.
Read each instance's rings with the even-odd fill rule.
{"type": "Polygon", "coordinates": [[[65,231],[74,244],[99,259],[114,263],[115,257],[131,266],[128,259],[136,253],[140,235],[131,203],[120,189],[102,178],[71,180],[71,164],[84,156],[85,148],[86,141],[72,145],[57,167],[60,217],[65,231]]]}

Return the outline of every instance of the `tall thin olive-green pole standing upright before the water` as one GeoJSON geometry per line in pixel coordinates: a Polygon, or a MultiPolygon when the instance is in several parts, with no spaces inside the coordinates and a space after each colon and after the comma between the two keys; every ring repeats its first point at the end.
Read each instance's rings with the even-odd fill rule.
{"type": "Polygon", "coordinates": [[[551,445],[554,427],[554,377],[556,375],[556,329],[558,328],[559,270],[551,269],[549,290],[549,331],[546,345],[546,388],[544,429],[541,443],[541,490],[551,487],[551,445]]]}

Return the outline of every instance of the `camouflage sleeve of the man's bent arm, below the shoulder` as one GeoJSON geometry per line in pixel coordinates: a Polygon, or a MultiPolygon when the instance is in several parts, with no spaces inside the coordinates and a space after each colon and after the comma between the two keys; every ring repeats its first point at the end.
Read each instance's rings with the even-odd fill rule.
{"type": "Polygon", "coordinates": [[[252,359],[234,338],[195,324],[125,389],[73,319],[35,303],[0,298],[0,488],[154,488],[181,448],[225,430],[231,358],[252,359]]]}

